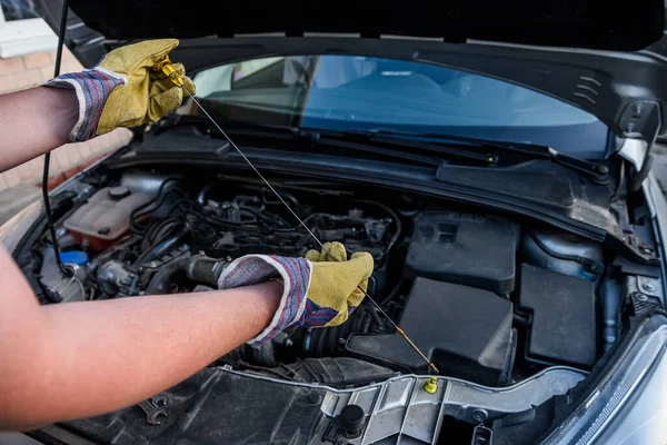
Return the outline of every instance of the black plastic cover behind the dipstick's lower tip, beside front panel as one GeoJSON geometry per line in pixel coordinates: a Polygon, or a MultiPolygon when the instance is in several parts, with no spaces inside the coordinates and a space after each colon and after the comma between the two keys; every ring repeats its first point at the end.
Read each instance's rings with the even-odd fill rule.
{"type": "MultiPolygon", "coordinates": [[[[482,289],[417,278],[399,326],[446,376],[498,385],[509,374],[516,335],[511,301],[482,289]]],[[[428,368],[398,334],[354,334],[349,353],[426,374],[428,368]]]]}

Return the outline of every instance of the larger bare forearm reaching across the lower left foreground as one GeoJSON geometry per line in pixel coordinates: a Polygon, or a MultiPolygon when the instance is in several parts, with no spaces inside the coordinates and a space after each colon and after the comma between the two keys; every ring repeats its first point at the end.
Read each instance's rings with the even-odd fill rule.
{"type": "Polygon", "coordinates": [[[44,307],[47,328],[28,350],[17,352],[30,363],[12,374],[19,380],[9,387],[14,394],[3,396],[11,404],[7,413],[0,407],[0,421],[29,427],[148,398],[259,334],[280,291],[268,283],[44,307]]]}

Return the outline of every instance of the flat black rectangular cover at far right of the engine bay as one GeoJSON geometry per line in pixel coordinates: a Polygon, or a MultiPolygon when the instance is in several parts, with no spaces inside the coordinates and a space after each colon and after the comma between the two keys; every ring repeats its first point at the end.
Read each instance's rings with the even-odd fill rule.
{"type": "Polygon", "coordinates": [[[524,264],[519,306],[532,313],[527,358],[587,368],[595,364],[593,281],[524,264]]]}

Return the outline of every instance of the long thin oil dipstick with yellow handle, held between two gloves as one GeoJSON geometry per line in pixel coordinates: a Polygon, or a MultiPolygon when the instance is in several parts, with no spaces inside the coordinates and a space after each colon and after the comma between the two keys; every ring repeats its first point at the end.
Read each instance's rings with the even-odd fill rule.
{"type": "MultiPolygon", "coordinates": [[[[250,168],[257,174],[257,176],[259,176],[259,178],[273,192],[273,195],[276,195],[276,197],[285,205],[285,207],[297,219],[297,221],[299,221],[299,224],[306,229],[306,231],[308,231],[308,235],[310,235],[312,237],[312,239],[315,239],[315,241],[322,248],[323,251],[326,251],[329,255],[329,257],[334,258],[334,260],[336,260],[336,261],[340,261],[338,258],[336,258],[334,255],[331,255],[329,249],[327,249],[327,247],[325,247],[325,245],[315,236],[315,234],[312,233],[312,230],[310,230],[310,228],[306,225],[306,222],[303,222],[301,220],[301,218],[299,218],[299,216],[292,210],[292,208],[285,201],[285,199],[282,199],[282,196],[280,196],[280,194],[278,191],[276,191],[273,186],[271,186],[271,184],[263,177],[263,175],[259,172],[259,170],[255,167],[255,165],[250,161],[250,159],[248,159],[246,157],[246,155],[243,155],[241,149],[238,148],[236,144],[233,144],[233,141],[229,138],[229,136],[227,136],[227,134],[222,130],[222,128],[220,128],[220,126],[208,113],[208,111],[197,101],[197,99],[195,99],[195,97],[190,93],[190,91],[188,91],[187,88],[183,88],[185,81],[183,81],[182,77],[171,66],[171,61],[169,60],[169,57],[166,56],[163,59],[158,61],[158,63],[156,63],[153,66],[153,70],[159,71],[162,75],[165,75],[167,78],[169,78],[169,80],[171,80],[173,82],[173,85],[182,88],[183,91],[186,91],[188,93],[188,96],[190,97],[190,99],[192,99],[195,105],[197,105],[197,107],[199,107],[199,109],[206,115],[206,117],[209,118],[209,120],[213,123],[213,126],[216,126],[216,128],[218,129],[218,131],[220,131],[220,134],[225,137],[225,139],[227,139],[227,141],[236,149],[236,151],[241,156],[241,158],[243,158],[243,160],[248,164],[248,166],[250,166],[250,168]]],[[[391,323],[391,325],[394,326],[394,328],[396,329],[398,335],[400,335],[408,343],[408,345],[410,345],[410,347],[412,349],[415,349],[415,352],[417,354],[419,354],[419,357],[421,357],[421,359],[428,365],[428,367],[435,374],[440,374],[440,372],[438,370],[436,365],[434,365],[428,359],[428,357],[419,349],[419,347],[417,345],[415,345],[415,343],[410,339],[410,337],[408,337],[408,335],[405,333],[405,330],[402,330],[400,327],[398,327],[398,325],[396,323],[394,323],[394,320],[391,318],[389,318],[389,316],[387,315],[387,313],[385,310],[382,310],[380,305],[375,299],[372,299],[368,295],[368,293],[361,288],[361,286],[357,286],[357,288],[359,290],[361,290],[364,293],[364,295],[366,296],[366,298],[368,298],[375,305],[375,307],[389,320],[389,323],[391,323]]]]}

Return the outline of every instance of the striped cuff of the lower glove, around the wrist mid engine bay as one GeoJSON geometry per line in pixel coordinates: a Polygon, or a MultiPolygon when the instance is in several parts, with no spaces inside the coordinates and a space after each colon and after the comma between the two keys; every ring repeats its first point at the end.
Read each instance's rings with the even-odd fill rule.
{"type": "Polygon", "coordinates": [[[248,344],[261,344],[278,333],[301,322],[306,309],[308,286],[312,265],[305,258],[287,258],[272,255],[247,255],[230,263],[218,280],[220,289],[250,286],[266,281],[276,274],[282,278],[280,305],[269,326],[248,344]]]}

